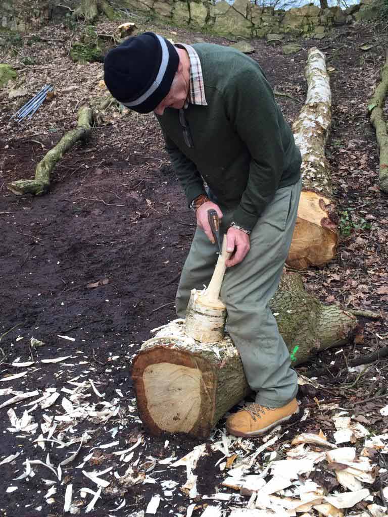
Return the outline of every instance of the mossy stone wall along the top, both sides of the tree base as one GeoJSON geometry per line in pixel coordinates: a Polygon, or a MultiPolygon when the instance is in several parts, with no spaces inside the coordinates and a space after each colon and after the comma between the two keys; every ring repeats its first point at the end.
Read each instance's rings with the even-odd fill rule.
{"type": "MultiPolygon", "coordinates": [[[[249,38],[291,33],[321,38],[335,25],[373,17],[376,1],[361,0],[344,11],[339,7],[320,9],[311,4],[287,11],[274,10],[253,5],[249,0],[235,0],[233,5],[225,0],[216,5],[206,0],[122,0],[120,4],[147,17],[221,36],[249,38]]],[[[52,0],[0,0],[0,4],[1,28],[11,31],[33,30],[53,18],[58,19],[59,14],[69,13],[66,10],[56,13],[57,2],[52,0]]]]}

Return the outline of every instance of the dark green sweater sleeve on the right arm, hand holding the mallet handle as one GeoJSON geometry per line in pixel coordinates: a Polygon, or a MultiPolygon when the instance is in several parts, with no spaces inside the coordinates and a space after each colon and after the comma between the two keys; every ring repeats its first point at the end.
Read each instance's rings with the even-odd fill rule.
{"type": "Polygon", "coordinates": [[[233,221],[251,230],[273,199],[283,171],[279,108],[256,64],[238,74],[225,99],[228,118],[251,157],[247,185],[233,221]]]}

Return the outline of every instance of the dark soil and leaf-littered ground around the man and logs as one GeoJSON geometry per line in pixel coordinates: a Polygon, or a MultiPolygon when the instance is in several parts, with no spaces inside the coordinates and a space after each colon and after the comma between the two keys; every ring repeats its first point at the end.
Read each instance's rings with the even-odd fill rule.
{"type": "MultiPolygon", "coordinates": [[[[231,43],[183,29],[155,25],[147,28],[170,33],[174,41],[203,39],[223,45],[231,43]]],[[[107,30],[107,24],[101,25],[102,30],[107,30]]],[[[10,102],[7,92],[0,93],[0,334],[3,334],[0,380],[27,371],[23,377],[1,383],[4,389],[0,391],[0,403],[9,398],[11,393],[5,388],[10,387],[22,392],[38,390],[41,396],[48,388],[52,392],[64,387],[74,389],[74,383],[92,379],[97,393],[94,389],[85,391],[81,386],[82,397],[71,400],[74,404],[88,403],[88,417],[56,421],[55,438],[59,442],[78,437],[78,442],[72,442],[77,445],[70,445],[69,450],[50,442],[34,443],[41,432],[41,423],[48,422],[44,415],[51,425],[55,422],[54,415],[63,413],[65,406],[63,403],[61,406],[61,398],[48,410],[37,404],[24,407],[29,400],[1,409],[0,461],[9,454],[21,454],[0,465],[6,480],[0,490],[0,512],[7,516],[54,517],[63,514],[69,483],[73,501],[77,499],[76,491],[83,487],[96,490],[96,485],[82,474],[83,469],[90,472],[98,465],[101,472],[112,467],[113,472],[124,474],[128,464],[119,465],[118,456],[107,452],[109,448],[99,449],[91,460],[84,462],[84,467],[74,468],[99,444],[118,440],[114,448],[127,450],[140,439],[140,445],[133,449],[133,461],[139,460],[136,463],[139,472],[145,472],[145,462],[152,461],[150,457],[181,458],[201,444],[200,440],[186,436],[148,436],[137,417],[130,375],[131,359],[150,337],[150,330],[175,316],[174,295],[195,231],[195,219],[170,168],[153,115],[123,116],[113,109],[102,114],[103,123],[93,130],[91,140],[74,146],[58,163],[48,194],[18,197],[7,190],[10,180],[33,177],[36,164],[47,150],[73,127],[80,105],[89,97],[102,95],[102,65],[76,65],[68,58],[68,45],[73,37],[69,29],[48,26],[37,35],[44,39],[24,44],[16,56],[9,53],[0,56],[0,61],[19,66],[29,97],[45,83],[53,84],[56,91],[54,100],[43,104],[31,121],[21,125],[9,121],[20,107],[20,99],[10,102]],[[37,53],[40,56],[37,64],[21,64],[26,56],[37,53]],[[99,286],[88,286],[98,281],[99,286]],[[43,341],[44,345],[31,346],[31,338],[43,341]],[[66,359],[41,362],[55,357],[66,359]],[[12,366],[18,358],[21,362],[35,363],[26,368],[12,366]],[[10,407],[19,418],[25,409],[31,410],[29,415],[39,424],[36,434],[7,430],[10,407]],[[109,408],[112,409],[109,420],[93,413],[109,408]],[[50,484],[45,485],[42,478],[53,480],[55,476],[39,464],[33,464],[35,476],[27,476],[28,482],[14,480],[23,474],[26,459],[58,465],[77,450],[80,436],[85,432],[89,436],[87,445],[82,443],[74,462],[62,467],[62,476],[55,485],[56,494],[45,497],[50,484]],[[48,452],[51,463],[47,460],[48,452]],[[17,489],[7,493],[11,485],[17,489]]],[[[28,40],[28,35],[22,37],[24,42],[28,40]]],[[[332,440],[335,428],[331,415],[336,407],[350,409],[353,417],[364,422],[370,432],[388,431],[388,418],[379,412],[387,404],[387,360],[377,360],[362,370],[348,369],[352,359],[388,345],[388,205],[387,196],[377,187],[378,149],[366,117],[368,98],[383,63],[384,37],[371,26],[340,27],[330,38],[321,41],[296,39],[303,50],[292,56],[284,56],[279,47],[271,47],[263,40],[251,42],[255,47],[251,57],[262,65],[276,91],[288,95],[278,95],[277,100],[290,123],[306,96],[303,69],[308,48],[322,49],[327,65],[333,67],[333,127],[327,157],[338,203],[341,242],[333,263],[322,269],[303,271],[302,276],[309,290],[324,302],[339,302],[349,309],[381,314],[377,320],[360,317],[363,330],[355,342],[325,352],[313,363],[297,369],[318,377],[324,389],[301,390],[299,400],[308,410],[307,418],[283,427],[281,432],[286,432],[286,436],[269,450],[280,450],[282,444],[305,430],[322,429],[327,439],[332,440]],[[373,45],[367,52],[360,49],[365,42],[373,45]],[[314,374],[314,370],[322,368],[324,373],[314,374]],[[330,405],[333,402],[335,406],[330,405]]],[[[224,423],[225,420],[220,421],[209,444],[220,438],[224,423]]],[[[254,449],[264,442],[257,438],[250,443],[254,449]]],[[[176,486],[182,486],[186,472],[184,468],[160,464],[148,473],[158,479],[157,483],[120,485],[112,477],[113,482],[100,494],[90,514],[105,516],[114,510],[112,515],[129,515],[145,510],[151,497],[160,494],[162,503],[157,515],[184,515],[188,505],[194,502],[197,517],[210,502],[203,496],[221,488],[225,473],[215,464],[222,457],[219,450],[208,449],[200,458],[195,470],[198,495],[193,500],[184,490],[163,494],[160,480],[174,480],[176,486]],[[116,511],[123,498],[125,506],[116,511]]],[[[386,455],[378,453],[375,463],[386,468],[386,455]]],[[[332,487],[335,478],[332,474],[329,478],[326,476],[322,484],[332,487]]],[[[386,486],[386,479],[386,473],[382,472],[372,489],[378,492],[386,486]]],[[[87,497],[89,502],[91,496],[87,497]]],[[[377,499],[380,504],[384,504],[383,497],[377,499]]],[[[77,500],[84,513],[86,503],[79,497],[77,500]]],[[[235,505],[244,506],[246,502],[247,498],[245,503],[244,498],[237,498],[235,505]]],[[[229,507],[229,503],[222,501],[217,504],[225,510],[229,507]]],[[[359,503],[354,511],[362,510],[365,504],[359,503]]]]}

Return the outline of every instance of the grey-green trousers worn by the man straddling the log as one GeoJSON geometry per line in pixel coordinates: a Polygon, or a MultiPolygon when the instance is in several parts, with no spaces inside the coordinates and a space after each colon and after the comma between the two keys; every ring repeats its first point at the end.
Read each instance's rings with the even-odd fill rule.
{"type": "MultiPolygon", "coordinates": [[[[221,288],[228,310],[227,330],[240,352],[248,384],[256,391],[256,402],[267,407],[281,407],[297,392],[296,372],[268,302],[279,285],[291,245],[301,188],[298,181],[277,190],[250,234],[248,254],[227,269],[221,288]]],[[[221,233],[225,234],[233,214],[222,211],[221,233]]],[[[176,294],[178,317],[185,317],[191,289],[208,285],[217,257],[215,246],[197,227],[176,294]]]]}

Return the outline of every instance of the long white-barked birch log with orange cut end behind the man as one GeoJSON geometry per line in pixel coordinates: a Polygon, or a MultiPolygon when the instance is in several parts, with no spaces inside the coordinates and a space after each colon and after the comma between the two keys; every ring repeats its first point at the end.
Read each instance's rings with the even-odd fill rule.
{"type": "Polygon", "coordinates": [[[330,80],[325,56],[317,48],[308,52],[305,76],[307,98],[292,128],[302,154],[303,190],[286,262],[296,269],[331,261],[338,242],[338,218],[325,157],[331,126],[330,80]]]}

